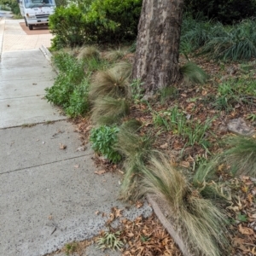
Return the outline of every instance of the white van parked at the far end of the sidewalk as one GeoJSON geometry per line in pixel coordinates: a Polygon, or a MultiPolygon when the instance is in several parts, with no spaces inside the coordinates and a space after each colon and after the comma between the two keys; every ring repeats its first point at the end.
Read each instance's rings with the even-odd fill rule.
{"type": "Polygon", "coordinates": [[[55,11],[55,0],[17,0],[20,13],[30,30],[33,26],[47,25],[49,15],[55,11]]]}

